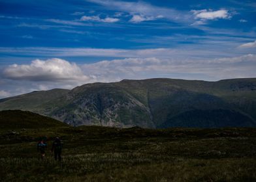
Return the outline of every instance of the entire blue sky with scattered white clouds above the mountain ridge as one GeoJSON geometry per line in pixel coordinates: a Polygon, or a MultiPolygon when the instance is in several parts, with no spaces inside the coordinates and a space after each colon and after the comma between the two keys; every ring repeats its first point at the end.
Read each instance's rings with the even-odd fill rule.
{"type": "Polygon", "coordinates": [[[255,0],[0,0],[0,98],[255,70],[255,0]]]}

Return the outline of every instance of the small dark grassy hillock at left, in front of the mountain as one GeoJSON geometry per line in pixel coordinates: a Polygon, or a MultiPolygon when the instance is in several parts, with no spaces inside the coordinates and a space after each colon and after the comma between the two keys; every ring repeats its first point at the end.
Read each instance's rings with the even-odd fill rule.
{"type": "Polygon", "coordinates": [[[53,118],[22,110],[0,111],[1,129],[37,129],[49,127],[67,127],[66,123],[53,118]]]}

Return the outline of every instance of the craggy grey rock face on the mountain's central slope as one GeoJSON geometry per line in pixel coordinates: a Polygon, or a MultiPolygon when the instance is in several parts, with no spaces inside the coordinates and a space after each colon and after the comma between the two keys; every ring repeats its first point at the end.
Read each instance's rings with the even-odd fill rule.
{"type": "Polygon", "coordinates": [[[106,125],[116,127],[154,127],[150,110],[121,88],[94,85],[72,90],[67,105],[54,110],[54,118],[72,125],[106,125]]]}

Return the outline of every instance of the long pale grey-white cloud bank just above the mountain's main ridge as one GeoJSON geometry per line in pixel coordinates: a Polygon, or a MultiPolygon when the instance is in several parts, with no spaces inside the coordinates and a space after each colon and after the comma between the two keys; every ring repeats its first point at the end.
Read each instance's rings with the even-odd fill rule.
{"type": "Polygon", "coordinates": [[[255,77],[256,55],[223,59],[172,60],[159,58],[129,58],[104,60],[84,64],[84,73],[94,75],[97,81],[170,77],[182,79],[225,79],[255,77]],[[254,65],[254,66],[252,66],[254,65]]]}

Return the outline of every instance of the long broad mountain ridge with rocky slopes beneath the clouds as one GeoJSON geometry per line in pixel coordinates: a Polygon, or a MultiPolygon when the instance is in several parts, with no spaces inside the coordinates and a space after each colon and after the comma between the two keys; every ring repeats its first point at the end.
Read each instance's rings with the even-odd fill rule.
{"type": "Polygon", "coordinates": [[[0,99],[0,110],[30,110],[71,125],[255,127],[256,78],[91,83],[0,99]]]}

